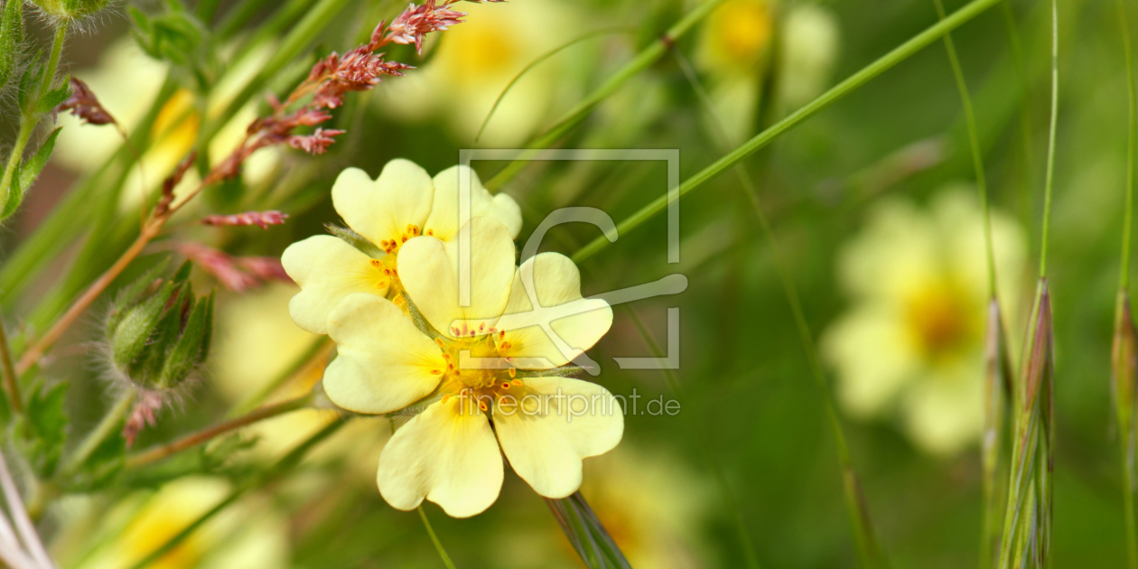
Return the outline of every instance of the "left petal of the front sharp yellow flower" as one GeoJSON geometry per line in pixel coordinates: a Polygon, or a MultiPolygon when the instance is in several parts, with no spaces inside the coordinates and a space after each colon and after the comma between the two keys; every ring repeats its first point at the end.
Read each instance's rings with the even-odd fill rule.
{"type": "Polygon", "coordinates": [[[446,368],[438,346],[374,295],[340,300],[328,316],[328,335],[338,355],[324,371],[324,391],[356,413],[389,413],[426,397],[446,368]]]}

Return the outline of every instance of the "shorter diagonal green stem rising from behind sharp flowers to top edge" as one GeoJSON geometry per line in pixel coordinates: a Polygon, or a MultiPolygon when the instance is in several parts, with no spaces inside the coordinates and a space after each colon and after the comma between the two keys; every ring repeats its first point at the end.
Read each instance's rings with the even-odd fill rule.
{"type": "Polygon", "coordinates": [[[644,48],[644,50],[637,53],[632,61],[625,64],[624,67],[609,77],[609,80],[601,86],[566,113],[552,129],[531,142],[529,145],[530,151],[522,154],[518,159],[511,162],[502,168],[501,172],[495,174],[494,178],[487,180],[485,184],[486,189],[490,191],[497,190],[512,180],[535,154],[544,148],[553,146],[561,139],[561,137],[569,132],[569,130],[576,126],[577,123],[588,116],[597,105],[620,89],[625,82],[649,68],[649,66],[654,64],[657,59],[663,57],[663,55],[668,52],[668,49],[675,44],[676,40],[686,34],[692,27],[695,26],[695,24],[708,17],[712,11],[715,11],[716,8],[719,7],[719,5],[723,3],[723,1],[724,0],[707,0],[684,16],[683,19],[677,22],[674,26],[669,27],[659,40],[655,40],[648,48],[644,48]]]}

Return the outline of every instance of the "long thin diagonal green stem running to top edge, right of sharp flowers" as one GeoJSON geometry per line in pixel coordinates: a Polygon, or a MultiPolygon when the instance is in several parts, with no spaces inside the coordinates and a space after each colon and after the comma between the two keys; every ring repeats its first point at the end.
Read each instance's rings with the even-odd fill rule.
{"type": "MultiPolygon", "coordinates": [[[[702,187],[707,182],[711,181],[719,174],[727,171],[727,168],[734,166],[736,163],[747,158],[756,150],[769,145],[778,137],[783,135],[787,131],[798,126],[800,123],[805,122],[807,118],[814,116],[818,112],[825,109],[826,107],[833,105],[838,100],[842,99],[847,94],[856,91],[861,85],[866,84],[877,75],[881,75],[885,71],[892,68],[897,64],[909,58],[917,51],[921,51],[930,43],[939,40],[948,32],[959,27],[965,22],[983,14],[984,10],[991,8],[1000,0],[972,0],[960,9],[953,13],[951,16],[941,19],[940,22],[933,24],[924,32],[921,32],[909,41],[897,47],[889,53],[885,53],[876,61],[863,67],[861,71],[850,75],[846,81],[842,81],[833,89],[826,91],[817,99],[810,101],[802,108],[795,110],[786,118],[783,118],[778,123],[772,125],[769,129],[760,132],[758,135],[751,140],[744,142],[742,146],[732,150],[723,158],[719,158],[710,166],[703,168],[698,174],[688,178],[679,185],[679,196],[686,196],[688,192],[702,187]]],[[[619,224],[617,224],[617,231],[624,234],[626,231],[630,231],[645,221],[652,218],[660,212],[668,207],[668,196],[661,196],[660,198],[653,200],[646,206],[642,207],[638,212],[632,216],[625,218],[619,224]]],[[[576,263],[580,263],[588,257],[592,257],[597,251],[603,249],[609,245],[608,238],[604,236],[597,237],[591,241],[585,247],[580,248],[572,255],[572,259],[576,263]]]]}

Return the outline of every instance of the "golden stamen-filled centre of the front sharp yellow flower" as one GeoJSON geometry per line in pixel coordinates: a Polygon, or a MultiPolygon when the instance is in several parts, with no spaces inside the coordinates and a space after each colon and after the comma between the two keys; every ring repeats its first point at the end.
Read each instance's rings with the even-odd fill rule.
{"type": "Polygon", "coordinates": [[[462,397],[487,412],[501,397],[520,391],[522,381],[517,378],[513,357],[508,355],[512,346],[505,332],[480,325],[479,330],[457,330],[454,335],[457,339],[435,339],[447,362],[445,370],[431,370],[443,376],[444,402],[462,397]]]}

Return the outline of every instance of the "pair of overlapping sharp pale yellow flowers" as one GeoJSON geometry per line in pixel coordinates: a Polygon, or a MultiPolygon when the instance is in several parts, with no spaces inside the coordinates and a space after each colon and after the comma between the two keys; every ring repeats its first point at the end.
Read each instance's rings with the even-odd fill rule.
{"type": "Polygon", "coordinates": [[[323,379],[333,403],[413,415],[380,455],[384,498],[402,510],[427,498],[454,517],[480,513],[497,498],[503,454],[538,494],[576,492],[582,459],[620,442],[624,415],[609,391],[556,370],[612,323],[605,302],[582,298],[572,261],[543,253],[516,266],[520,209],[468,167],[431,179],[396,159],[377,180],[349,168],[332,204],[351,231],[284,251],[302,289],[289,312],[336,341],[323,379]],[[463,179],[471,217],[460,228],[463,179]]]}

